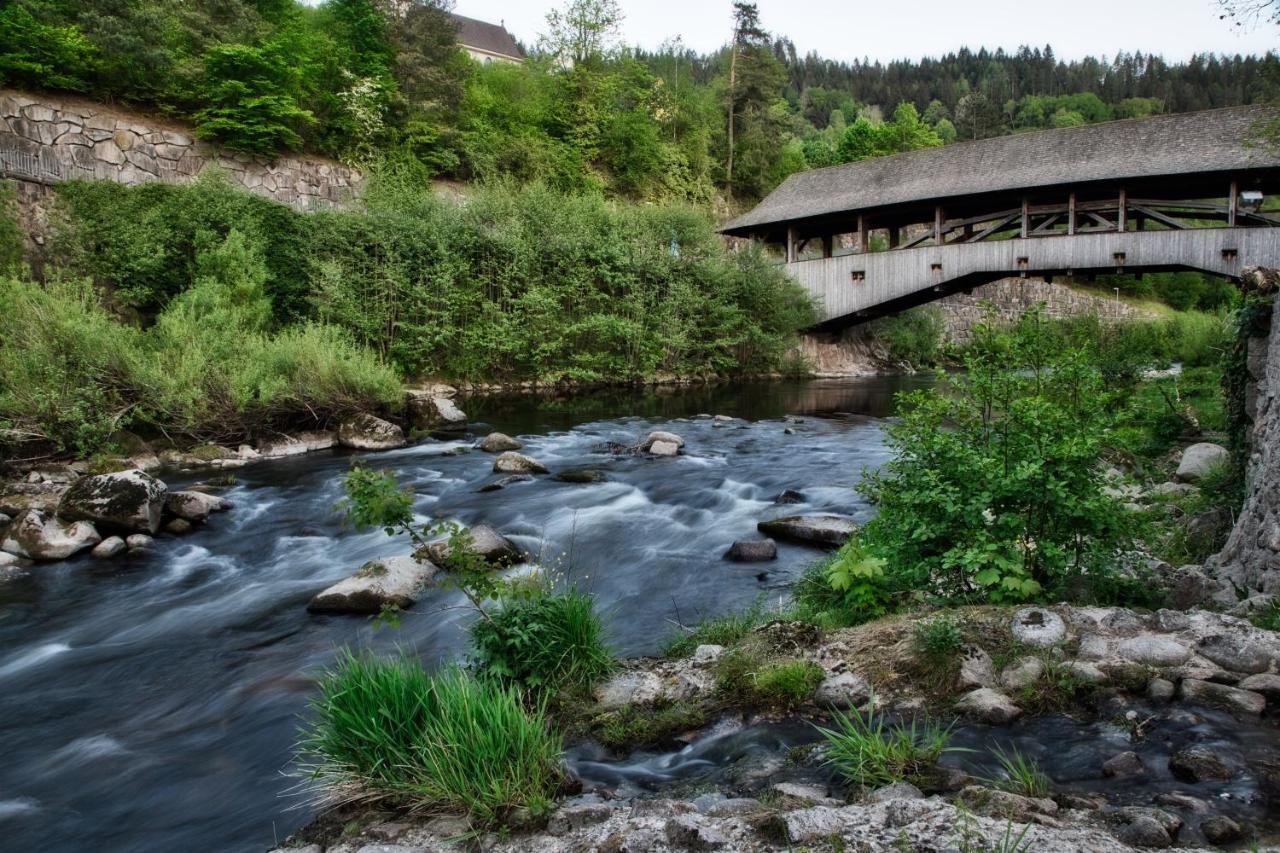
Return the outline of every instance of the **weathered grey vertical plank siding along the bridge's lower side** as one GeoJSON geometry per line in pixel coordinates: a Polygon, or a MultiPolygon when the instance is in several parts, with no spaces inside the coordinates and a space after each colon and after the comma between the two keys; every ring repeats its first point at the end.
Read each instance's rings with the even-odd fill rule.
{"type": "Polygon", "coordinates": [[[818,304],[822,324],[852,325],[904,304],[1006,275],[1196,269],[1235,278],[1244,266],[1280,265],[1280,228],[1076,233],[922,246],[787,264],[818,304]],[[954,289],[954,288],[952,288],[954,289]]]}

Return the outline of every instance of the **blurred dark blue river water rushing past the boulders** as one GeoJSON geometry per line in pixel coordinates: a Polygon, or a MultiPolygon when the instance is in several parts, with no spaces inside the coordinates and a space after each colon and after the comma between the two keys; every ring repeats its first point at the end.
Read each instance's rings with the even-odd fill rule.
{"type": "MultiPolygon", "coordinates": [[[[0,848],[79,853],[261,850],[310,818],[284,774],[315,674],[335,648],[463,647],[456,593],[425,597],[398,630],[311,616],[306,602],[364,561],[403,553],[344,529],[333,506],[355,459],[393,467],[417,511],[488,521],[595,593],[621,654],[654,651],[685,622],[781,589],[814,552],[781,546],[765,566],[724,562],[736,538],[786,511],[864,517],[858,473],[884,460],[882,421],[910,379],[772,383],[573,401],[471,401],[476,432],[524,438],[553,471],[479,493],[493,459],[428,442],[379,455],[311,453],[237,471],[236,508],[142,557],[38,566],[0,588],[0,848]],[[726,414],[717,425],[694,419],[726,414]],[[795,434],[786,415],[801,415],[795,434]],[[678,432],[675,460],[611,457],[605,441],[678,432]],[[781,491],[806,503],[774,507],[781,491]]],[[[166,476],[170,485],[191,475],[166,476]]]]}

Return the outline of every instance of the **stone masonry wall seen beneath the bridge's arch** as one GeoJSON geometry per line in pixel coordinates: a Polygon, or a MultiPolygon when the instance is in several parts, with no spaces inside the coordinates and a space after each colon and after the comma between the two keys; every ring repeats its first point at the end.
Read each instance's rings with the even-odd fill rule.
{"type": "Polygon", "coordinates": [[[936,302],[942,309],[948,341],[963,343],[973,327],[984,316],[986,304],[995,306],[1005,320],[1016,320],[1027,309],[1044,304],[1044,314],[1052,318],[1097,314],[1103,319],[1135,320],[1143,311],[1116,300],[1083,293],[1064,284],[1048,283],[1042,278],[1002,278],[972,293],[954,293],[936,302]]]}

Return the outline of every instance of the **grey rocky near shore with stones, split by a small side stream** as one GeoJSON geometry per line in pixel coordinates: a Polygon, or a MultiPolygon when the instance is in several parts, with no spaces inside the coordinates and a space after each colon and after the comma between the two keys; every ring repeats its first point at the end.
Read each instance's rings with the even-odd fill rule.
{"type": "MultiPolygon", "coordinates": [[[[485,834],[460,817],[376,807],[339,809],[280,849],[1094,853],[1231,845],[1253,835],[1229,813],[1239,803],[1233,803],[1225,786],[1275,797],[1280,753],[1242,754],[1211,747],[1197,734],[1203,729],[1197,721],[1225,711],[1239,726],[1261,727],[1263,738],[1270,736],[1266,731],[1277,731],[1280,635],[1242,617],[1203,610],[1139,613],[1057,605],[947,612],[972,642],[946,684],[922,676],[911,643],[911,625],[919,615],[829,633],[774,621],[758,628],[750,642],[820,667],[820,681],[792,711],[805,720],[823,721],[832,711],[865,711],[872,702],[893,719],[955,717],[955,725],[982,724],[993,731],[1033,711],[1112,719],[1111,725],[1126,733],[1133,747],[1107,743],[1098,748],[1092,776],[1124,780],[1129,789],[1124,798],[1110,802],[1106,794],[1091,793],[1088,779],[1069,780],[1043,797],[1025,795],[955,767],[919,785],[899,783],[876,790],[776,781],[783,763],[819,767],[819,748],[800,758],[765,760],[763,768],[759,757],[748,754],[741,761],[756,763],[735,776],[737,784],[704,785],[696,793],[664,795],[659,788],[636,795],[595,785],[563,799],[544,820],[530,818],[502,835],[485,834]],[[1185,719],[1187,733],[1169,744],[1146,743],[1148,727],[1162,716],[1185,719]],[[1151,758],[1152,749],[1161,756],[1158,762],[1151,758]],[[1178,790],[1153,786],[1149,802],[1135,804],[1142,800],[1133,794],[1135,789],[1169,779],[1176,780],[1178,790]],[[1021,841],[1001,847],[1012,839],[1021,841]]],[[[721,727],[726,720],[750,725],[777,719],[776,712],[759,707],[724,704],[717,667],[731,653],[731,648],[699,646],[680,660],[623,661],[596,688],[590,713],[658,712],[680,703],[713,708],[721,727]]],[[[698,731],[677,734],[676,748],[699,736],[698,731]]]]}

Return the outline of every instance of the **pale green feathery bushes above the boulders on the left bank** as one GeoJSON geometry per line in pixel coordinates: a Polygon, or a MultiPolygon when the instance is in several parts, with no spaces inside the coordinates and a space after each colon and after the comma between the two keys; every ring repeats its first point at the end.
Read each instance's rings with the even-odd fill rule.
{"type": "Polygon", "coordinates": [[[122,428],[234,442],[398,402],[396,374],[342,330],[268,327],[261,265],[238,234],[198,269],[146,330],[87,284],[0,278],[0,442],[81,456],[122,428]]]}

